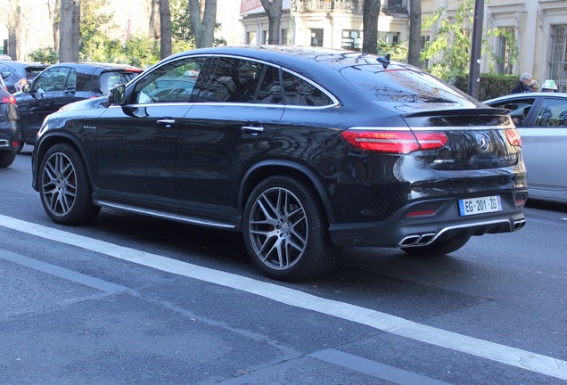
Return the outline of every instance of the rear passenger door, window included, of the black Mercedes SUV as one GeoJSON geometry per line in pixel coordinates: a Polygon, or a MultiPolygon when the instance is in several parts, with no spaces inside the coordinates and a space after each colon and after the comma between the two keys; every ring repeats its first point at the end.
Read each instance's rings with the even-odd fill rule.
{"type": "Polygon", "coordinates": [[[275,135],[284,113],[280,70],[218,57],[179,134],[177,191],[182,204],[234,214],[242,174],[275,135]]]}

